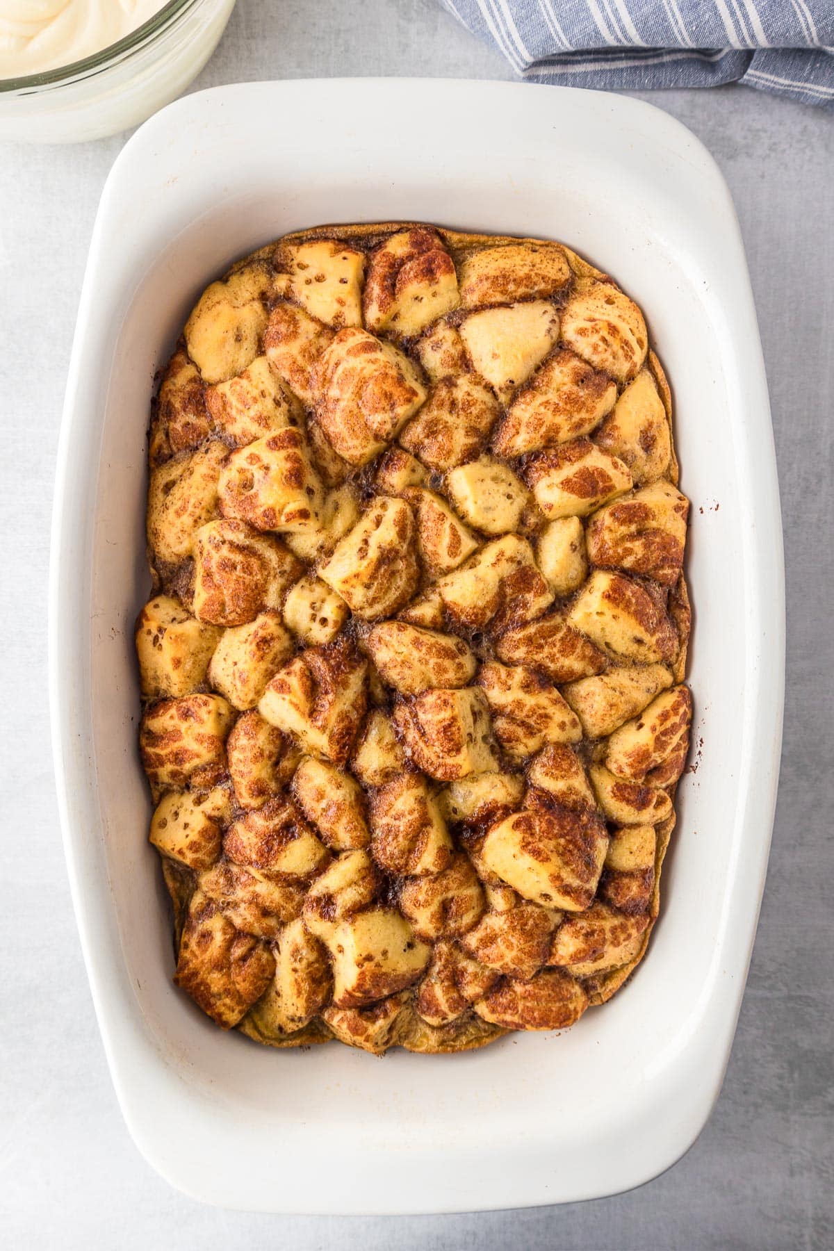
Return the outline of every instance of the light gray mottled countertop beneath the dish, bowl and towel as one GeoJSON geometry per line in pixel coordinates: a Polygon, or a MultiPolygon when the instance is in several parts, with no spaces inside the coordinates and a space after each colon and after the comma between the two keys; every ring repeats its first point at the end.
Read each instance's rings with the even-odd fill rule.
{"type": "MultiPolygon", "coordinates": [[[[195,88],[386,74],[511,78],[435,0],[239,0],[195,88]]],[[[744,88],[645,99],[703,139],[735,198],[770,382],[785,528],[788,699],[779,806],[750,980],[709,1125],[684,1160],[631,1193],[453,1217],[284,1220],[219,1212],[173,1191],[139,1156],[110,1085],[70,906],[45,663],[64,380],[95,208],[123,140],[0,145],[5,1245],[33,1251],[834,1246],[834,115],[744,88]]]]}

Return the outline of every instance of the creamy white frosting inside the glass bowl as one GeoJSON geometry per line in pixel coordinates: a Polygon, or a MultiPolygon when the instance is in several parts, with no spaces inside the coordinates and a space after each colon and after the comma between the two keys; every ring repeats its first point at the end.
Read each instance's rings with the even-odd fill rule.
{"type": "Polygon", "coordinates": [[[115,44],[166,0],[0,0],[0,79],[70,65],[115,44]]]}

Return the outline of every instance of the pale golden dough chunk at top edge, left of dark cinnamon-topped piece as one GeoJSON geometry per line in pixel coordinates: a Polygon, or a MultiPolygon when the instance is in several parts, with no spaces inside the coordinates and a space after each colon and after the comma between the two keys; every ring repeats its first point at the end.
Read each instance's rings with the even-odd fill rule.
{"type": "Polygon", "coordinates": [[[279,245],[274,260],[289,275],[285,294],[310,317],[334,329],[361,325],[364,251],[336,239],[313,239],[298,246],[279,245]]]}

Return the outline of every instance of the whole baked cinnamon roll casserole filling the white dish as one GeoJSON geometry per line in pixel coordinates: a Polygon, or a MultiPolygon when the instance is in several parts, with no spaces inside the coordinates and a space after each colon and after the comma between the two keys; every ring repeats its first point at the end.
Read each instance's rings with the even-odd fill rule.
{"type": "Polygon", "coordinates": [[[643,314],[560,244],[330,226],[203,293],[136,648],[219,1026],[463,1051],[626,981],[691,719],[676,483],[643,314]]]}

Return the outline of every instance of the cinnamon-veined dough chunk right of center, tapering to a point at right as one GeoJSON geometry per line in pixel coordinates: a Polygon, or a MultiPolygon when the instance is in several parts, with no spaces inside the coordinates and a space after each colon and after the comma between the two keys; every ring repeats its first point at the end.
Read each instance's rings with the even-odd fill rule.
{"type": "Polygon", "coordinates": [[[511,759],[526,759],[545,743],[581,738],[576,714],[535,669],[489,661],[480,667],[478,686],[486,696],[495,737],[511,759]]]}

